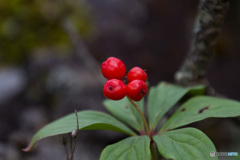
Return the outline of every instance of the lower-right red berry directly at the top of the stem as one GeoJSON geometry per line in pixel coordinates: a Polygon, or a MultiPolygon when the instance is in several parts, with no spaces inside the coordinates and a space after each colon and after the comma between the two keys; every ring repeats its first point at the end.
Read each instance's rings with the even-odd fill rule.
{"type": "Polygon", "coordinates": [[[147,92],[147,85],[142,80],[133,80],[127,85],[127,95],[134,101],[140,101],[147,92]]]}

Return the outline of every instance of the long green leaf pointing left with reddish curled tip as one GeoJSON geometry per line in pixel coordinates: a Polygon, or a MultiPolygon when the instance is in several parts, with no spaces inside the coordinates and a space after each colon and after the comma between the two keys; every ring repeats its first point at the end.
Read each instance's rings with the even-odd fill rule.
{"type": "MultiPolygon", "coordinates": [[[[136,135],[117,119],[102,112],[80,111],[78,112],[78,122],[79,130],[111,130],[127,135],[136,135]]],[[[71,133],[76,128],[77,120],[75,113],[60,118],[40,129],[32,138],[29,146],[23,149],[23,151],[30,151],[33,145],[43,138],[71,133]]]]}

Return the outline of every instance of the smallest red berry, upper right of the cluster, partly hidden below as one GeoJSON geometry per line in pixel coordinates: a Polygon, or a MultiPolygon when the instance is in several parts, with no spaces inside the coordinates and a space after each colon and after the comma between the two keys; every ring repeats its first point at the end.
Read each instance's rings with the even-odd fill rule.
{"type": "Polygon", "coordinates": [[[131,82],[133,80],[142,80],[144,82],[147,81],[147,74],[146,72],[144,72],[144,70],[140,67],[133,67],[129,72],[128,72],[128,75],[127,75],[127,81],[128,82],[131,82]]]}

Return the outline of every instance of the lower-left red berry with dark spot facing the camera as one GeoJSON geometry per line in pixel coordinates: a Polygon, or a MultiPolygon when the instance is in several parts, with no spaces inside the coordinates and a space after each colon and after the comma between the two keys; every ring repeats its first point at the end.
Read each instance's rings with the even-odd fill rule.
{"type": "Polygon", "coordinates": [[[103,94],[112,100],[120,100],[127,95],[127,87],[119,79],[110,79],[103,86],[103,94]]]}

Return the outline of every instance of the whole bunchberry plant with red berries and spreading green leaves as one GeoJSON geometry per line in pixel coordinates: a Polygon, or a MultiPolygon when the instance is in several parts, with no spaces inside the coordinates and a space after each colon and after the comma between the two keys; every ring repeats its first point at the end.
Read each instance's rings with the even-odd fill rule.
{"type": "Polygon", "coordinates": [[[217,156],[210,156],[216,148],[207,135],[196,128],[182,127],[207,118],[240,116],[239,102],[202,96],[202,85],[184,88],[161,82],[150,87],[146,101],[143,98],[148,92],[145,74],[139,80],[141,71],[127,80],[127,84],[125,65],[114,57],[103,62],[102,73],[108,79],[103,93],[109,98],[103,104],[112,115],[91,110],[67,115],[39,130],[23,150],[30,151],[46,137],[71,133],[76,142],[80,130],[101,129],[120,132],[129,138],[107,146],[100,160],[217,160],[217,156]],[[192,98],[178,104],[175,113],[166,120],[164,115],[186,94],[192,98]]]}

